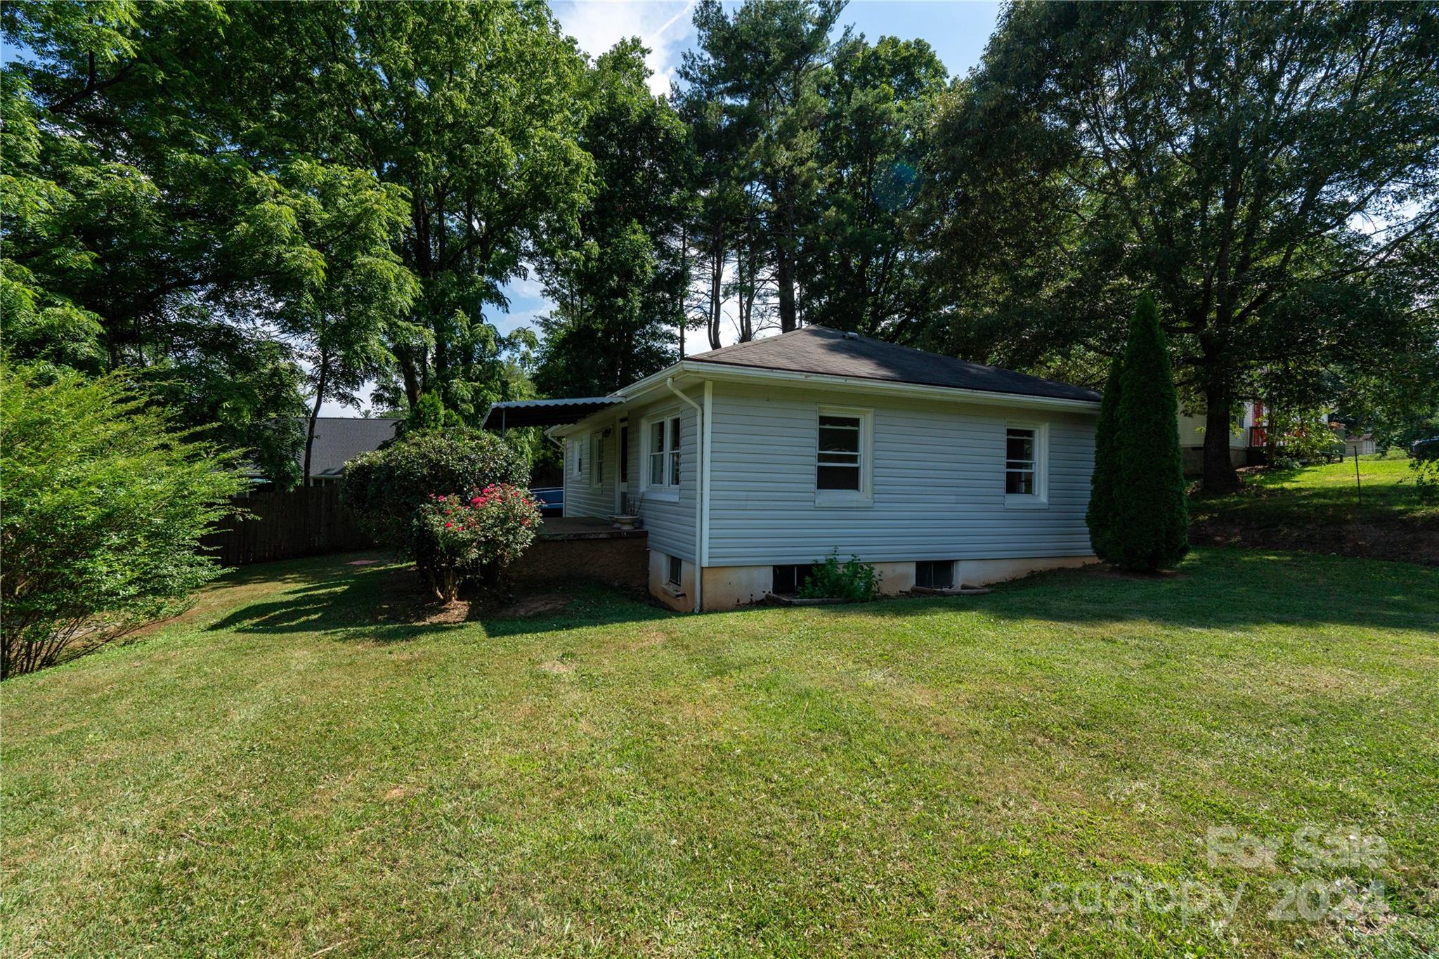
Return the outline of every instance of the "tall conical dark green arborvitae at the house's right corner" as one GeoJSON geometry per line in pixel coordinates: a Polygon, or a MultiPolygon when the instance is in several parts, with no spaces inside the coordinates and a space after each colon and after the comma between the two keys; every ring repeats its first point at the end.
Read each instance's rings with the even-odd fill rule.
{"type": "Polygon", "coordinates": [[[1179,395],[1158,308],[1145,293],[1130,324],[1120,374],[1115,523],[1108,559],[1125,569],[1173,566],[1189,552],[1189,508],[1179,451],[1179,395]]]}

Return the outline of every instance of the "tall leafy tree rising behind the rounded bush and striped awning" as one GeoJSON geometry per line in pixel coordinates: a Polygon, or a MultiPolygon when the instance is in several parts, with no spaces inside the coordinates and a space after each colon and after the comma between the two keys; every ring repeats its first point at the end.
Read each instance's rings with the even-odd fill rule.
{"type": "MultiPolygon", "coordinates": [[[[263,137],[371,171],[409,196],[394,252],[419,293],[387,332],[381,403],[437,390],[466,421],[502,397],[512,348],[486,311],[577,233],[584,62],[538,3],[259,4],[248,36],[296,82],[263,137]]],[[[403,403],[397,403],[403,401],[403,403]]]]}

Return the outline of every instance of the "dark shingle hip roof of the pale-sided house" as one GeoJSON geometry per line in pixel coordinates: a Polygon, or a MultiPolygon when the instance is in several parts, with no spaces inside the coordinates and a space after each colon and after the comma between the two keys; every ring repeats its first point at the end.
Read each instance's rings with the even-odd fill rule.
{"type": "Polygon", "coordinates": [[[685,359],[830,377],[915,382],[954,390],[1099,401],[1097,391],[1084,387],[967,362],[954,357],[941,357],[924,349],[845,334],[827,326],[804,326],[778,336],[751,339],[747,344],[695,354],[685,357],[685,359]]]}

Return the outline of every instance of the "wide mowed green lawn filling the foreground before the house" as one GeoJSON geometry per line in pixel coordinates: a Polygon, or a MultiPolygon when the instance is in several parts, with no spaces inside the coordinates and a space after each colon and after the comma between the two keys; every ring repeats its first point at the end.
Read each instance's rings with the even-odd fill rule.
{"type": "Polygon", "coordinates": [[[426,624],[350,559],[0,689],[4,955],[1439,949],[1439,569],[426,624]],[[1384,845],[1302,864],[1304,827],[1384,845]],[[1389,912],[1269,917],[1345,878],[1389,912]]]}

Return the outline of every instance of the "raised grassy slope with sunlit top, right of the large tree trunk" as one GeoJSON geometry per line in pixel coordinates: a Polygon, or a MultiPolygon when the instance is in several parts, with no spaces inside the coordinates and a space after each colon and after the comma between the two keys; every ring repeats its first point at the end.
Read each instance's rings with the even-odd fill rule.
{"type": "Polygon", "coordinates": [[[1190,497],[1197,543],[1309,549],[1439,564],[1439,506],[1419,502],[1406,459],[1363,456],[1246,473],[1245,487],[1190,497]]]}

